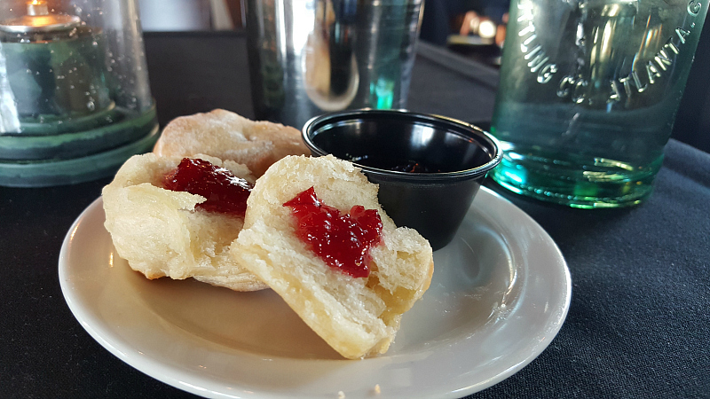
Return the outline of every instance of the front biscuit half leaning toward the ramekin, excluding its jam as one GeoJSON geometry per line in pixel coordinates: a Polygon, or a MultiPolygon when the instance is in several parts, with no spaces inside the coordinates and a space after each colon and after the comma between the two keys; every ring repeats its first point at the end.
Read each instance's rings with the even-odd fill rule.
{"type": "Polygon", "coordinates": [[[429,242],[413,229],[397,228],[378,203],[377,185],[332,156],[288,156],[273,164],[249,196],[231,254],[347,358],[384,353],[433,272],[429,242]],[[296,237],[295,219],[283,203],[311,186],[320,200],[343,213],[354,205],[379,212],[383,243],[371,250],[369,278],[334,270],[296,237]]]}

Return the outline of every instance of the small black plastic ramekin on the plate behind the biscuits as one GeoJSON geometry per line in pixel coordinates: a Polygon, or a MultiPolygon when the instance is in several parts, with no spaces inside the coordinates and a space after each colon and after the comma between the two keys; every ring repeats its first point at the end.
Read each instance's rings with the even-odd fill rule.
{"type": "Polygon", "coordinates": [[[379,184],[398,226],[419,231],[434,250],[453,238],[486,173],[501,162],[496,139],[469,123],[397,110],[327,113],[302,131],[313,156],[333,154],[379,184]]]}

